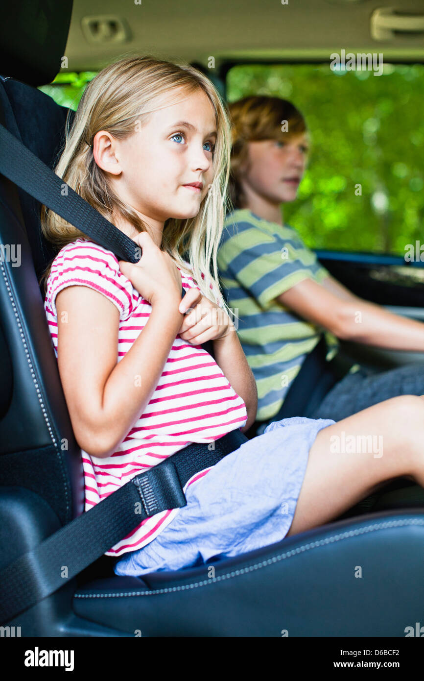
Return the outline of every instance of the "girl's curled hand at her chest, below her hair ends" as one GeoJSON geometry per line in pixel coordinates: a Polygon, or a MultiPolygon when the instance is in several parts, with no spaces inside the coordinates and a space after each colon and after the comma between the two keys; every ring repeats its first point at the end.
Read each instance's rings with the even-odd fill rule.
{"type": "Polygon", "coordinates": [[[225,310],[202,296],[196,288],[187,289],[179,310],[186,311],[186,317],[178,334],[192,345],[225,338],[235,330],[225,310]]]}

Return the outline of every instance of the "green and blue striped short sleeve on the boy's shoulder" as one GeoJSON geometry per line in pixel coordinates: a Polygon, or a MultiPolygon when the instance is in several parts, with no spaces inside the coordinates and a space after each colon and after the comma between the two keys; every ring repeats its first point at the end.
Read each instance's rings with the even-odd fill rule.
{"type": "Polygon", "coordinates": [[[281,233],[241,223],[218,251],[221,276],[233,279],[262,308],[305,279],[319,283],[328,276],[316,255],[291,227],[281,233]]]}

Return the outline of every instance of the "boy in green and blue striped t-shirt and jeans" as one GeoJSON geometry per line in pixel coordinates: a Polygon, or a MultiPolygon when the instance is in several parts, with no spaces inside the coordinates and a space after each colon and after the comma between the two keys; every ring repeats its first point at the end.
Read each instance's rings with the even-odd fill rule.
{"type": "Polygon", "coordinates": [[[299,110],[263,95],[235,101],[229,112],[235,210],[227,217],[218,267],[227,302],[239,308],[238,335],[257,380],[257,422],[248,436],[263,432],[270,420],[294,415],[293,402],[284,400],[293,384],[298,393],[298,382],[308,380],[309,368],[297,375],[320,338],[322,375],[314,390],[304,390],[302,408],[297,400],[296,414],[340,421],[387,398],[421,395],[424,372],[413,364],[374,375],[354,365],[340,380],[332,368],[338,358],[325,362],[325,340],[337,345],[334,336],[423,351],[424,324],[352,294],[283,223],[282,204],[295,200],[308,161],[308,131],[299,110]],[[323,330],[330,332],[325,339],[323,330]]]}

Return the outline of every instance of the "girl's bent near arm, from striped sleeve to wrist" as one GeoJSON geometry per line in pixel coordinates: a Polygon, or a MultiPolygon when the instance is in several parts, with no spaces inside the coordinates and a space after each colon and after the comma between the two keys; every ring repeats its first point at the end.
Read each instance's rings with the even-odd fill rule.
{"type": "Polygon", "coordinates": [[[157,300],[118,362],[114,304],[85,286],[57,294],[59,373],[76,439],[88,454],[113,454],[148,405],[181,326],[177,295],[157,300]]]}

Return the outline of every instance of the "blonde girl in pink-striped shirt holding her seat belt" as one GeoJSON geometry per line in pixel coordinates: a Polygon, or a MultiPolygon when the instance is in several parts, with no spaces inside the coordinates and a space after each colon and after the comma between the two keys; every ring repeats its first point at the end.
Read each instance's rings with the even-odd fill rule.
{"type": "Polygon", "coordinates": [[[140,262],[118,262],[43,213],[45,236],[61,245],[46,271],[45,308],[82,448],[86,509],[189,443],[240,438],[187,482],[186,507],[147,518],[107,552],[120,556],[118,575],[279,541],[336,518],[393,477],[424,484],[419,397],[340,424],[293,418],[244,436],[257,411],[255,380],[216,275],[230,142],[208,78],[127,57],[88,84],[56,173],[140,244],[140,262]],[[208,340],[214,359],[201,347],[208,340]],[[341,456],[331,437],[344,431],[381,435],[384,456],[341,456]]]}

